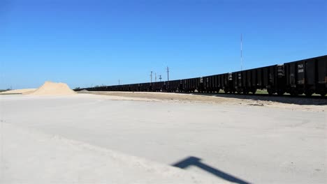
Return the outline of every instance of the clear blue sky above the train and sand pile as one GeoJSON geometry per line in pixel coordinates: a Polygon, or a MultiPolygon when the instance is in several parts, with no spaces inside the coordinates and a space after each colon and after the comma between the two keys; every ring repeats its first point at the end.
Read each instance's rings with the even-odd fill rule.
{"type": "Polygon", "coordinates": [[[214,75],[327,54],[327,1],[0,0],[0,89],[214,75]]]}

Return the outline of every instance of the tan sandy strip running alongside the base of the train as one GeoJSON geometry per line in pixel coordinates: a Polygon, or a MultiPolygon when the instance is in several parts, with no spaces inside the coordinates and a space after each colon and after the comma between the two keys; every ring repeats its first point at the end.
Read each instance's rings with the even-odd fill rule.
{"type": "Polygon", "coordinates": [[[289,98],[288,96],[266,96],[266,95],[229,95],[229,94],[186,94],[186,93],[153,93],[153,92],[115,92],[115,91],[89,91],[80,93],[91,93],[96,95],[109,95],[115,99],[122,100],[144,100],[164,102],[200,102],[209,104],[246,105],[274,107],[282,109],[326,112],[327,98],[289,98]],[[118,97],[118,98],[117,98],[118,97]]]}

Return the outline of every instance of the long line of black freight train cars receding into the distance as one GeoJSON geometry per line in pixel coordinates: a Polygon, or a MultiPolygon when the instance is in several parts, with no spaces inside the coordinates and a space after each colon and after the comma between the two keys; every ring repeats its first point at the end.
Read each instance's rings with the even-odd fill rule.
{"type": "MultiPolygon", "coordinates": [[[[154,92],[198,92],[256,93],[266,89],[270,95],[310,96],[327,93],[327,55],[284,64],[228,72],[219,75],[177,79],[164,82],[146,82],[115,86],[84,88],[87,91],[154,91],[154,92]]],[[[77,89],[81,91],[83,89],[77,89]]]]}

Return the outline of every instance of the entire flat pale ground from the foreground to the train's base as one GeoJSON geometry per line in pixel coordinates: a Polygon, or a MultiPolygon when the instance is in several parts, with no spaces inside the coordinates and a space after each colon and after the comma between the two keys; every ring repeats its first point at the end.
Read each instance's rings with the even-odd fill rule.
{"type": "MultiPolygon", "coordinates": [[[[326,101],[320,100],[317,105],[312,105],[316,102],[299,105],[198,95],[160,95],[0,96],[1,130],[6,132],[1,134],[3,180],[33,183],[33,178],[34,181],[40,179],[31,177],[33,174],[45,173],[48,178],[44,181],[61,183],[74,181],[71,178],[94,183],[106,177],[105,181],[117,183],[327,183],[326,101]],[[17,137],[13,136],[15,131],[17,137]],[[41,138],[35,138],[36,135],[41,138]],[[27,139],[37,141],[27,144],[27,139]],[[65,141],[58,143],[57,139],[65,141]],[[62,146],[67,142],[68,146],[62,146]],[[124,160],[133,164],[117,161],[115,157],[112,159],[111,154],[111,161],[116,160],[116,168],[126,164],[129,167],[112,171],[112,167],[108,169],[101,165],[101,171],[92,170],[99,177],[88,176],[87,169],[92,169],[90,164],[110,159],[99,151],[96,154],[101,157],[84,150],[75,153],[70,149],[70,155],[66,149],[52,150],[74,148],[71,144],[88,145],[83,148],[92,151],[105,149],[116,155],[122,153],[126,155],[124,160]],[[16,154],[20,149],[22,153],[16,154]],[[43,152],[47,150],[47,153],[43,152]],[[32,162],[33,153],[38,153],[39,162],[48,163],[46,168],[35,160],[32,162]],[[93,159],[81,164],[80,160],[85,159],[76,156],[82,153],[93,155],[87,155],[93,159]],[[51,156],[44,158],[45,154],[51,156]],[[58,164],[59,158],[62,160],[63,157],[75,161],[58,164]],[[135,161],[143,159],[147,161],[135,161]],[[155,162],[156,166],[146,167],[148,162],[155,162]],[[158,169],[164,165],[182,169],[158,169]],[[66,169],[64,176],[54,169],[57,167],[66,169]],[[81,167],[84,172],[73,172],[81,167]],[[147,174],[153,177],[145,180],[147,174]]],[[[109,161],[108,165],[112,163],[109,161]]],[[[93,168],[99,169],[94,165],[93,168]]]]}

